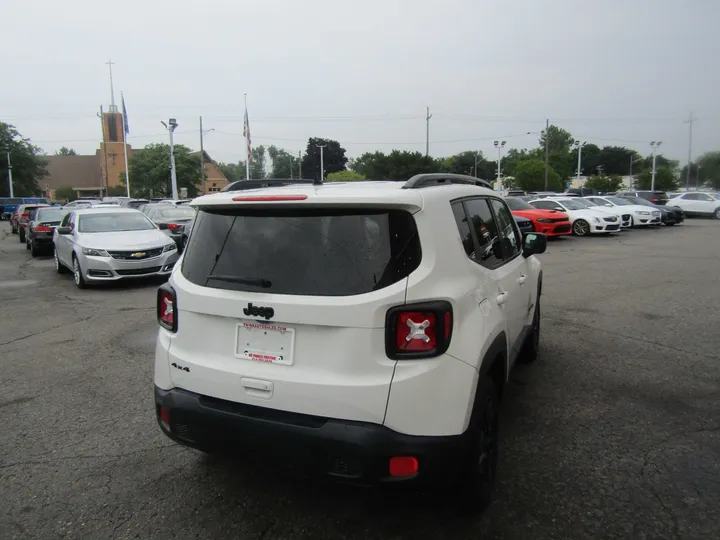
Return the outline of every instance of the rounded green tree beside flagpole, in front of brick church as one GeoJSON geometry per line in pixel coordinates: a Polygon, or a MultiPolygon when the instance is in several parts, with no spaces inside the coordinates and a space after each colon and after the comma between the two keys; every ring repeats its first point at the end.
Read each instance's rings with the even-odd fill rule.
{"type": "MultiPolygon", "coordinates": [[[[200,156],[193,155],[190,148],[176,144],[175,173],[178,192],[187,188],[188,196],[195,197],[198,192],[198,169],[200,156]]],[[[120,175],[125,184],[125,175],[120,175]]],[[[168,197],[172,194],[170,185],[170,146],[167,144],[149,144],[142,151],[133,154],[130,162],[130,191],[133,197],[168,197]]]]}

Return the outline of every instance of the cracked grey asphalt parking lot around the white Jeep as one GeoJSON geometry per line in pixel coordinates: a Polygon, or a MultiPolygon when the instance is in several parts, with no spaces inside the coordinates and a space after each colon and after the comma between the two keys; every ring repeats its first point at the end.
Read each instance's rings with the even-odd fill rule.
{"type": "Polygon", "coordinates": [[[495,499],[308,483],[177,446],[157,283],[80,291],[0,223],[0,537],[720,538],[720,222],[550,243],[495,499]]]}

